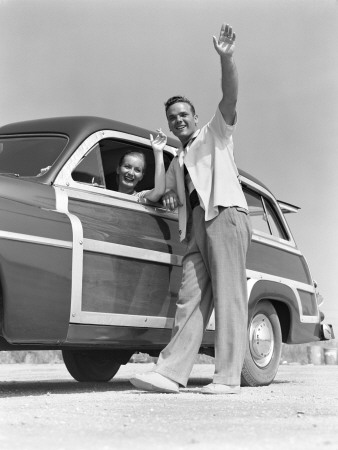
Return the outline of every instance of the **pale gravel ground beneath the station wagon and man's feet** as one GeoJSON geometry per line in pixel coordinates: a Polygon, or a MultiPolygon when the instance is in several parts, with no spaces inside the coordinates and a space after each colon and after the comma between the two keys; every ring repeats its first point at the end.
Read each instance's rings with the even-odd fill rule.
{"type": "Polygon", "coordinates": [[[205,396],[212,364],[195,365],[179,394],[128,382],[77,383],[63,364],[0,365],[0,448],[338,450],[338,365],[281,365],[270,386],[205,396]]]}

